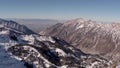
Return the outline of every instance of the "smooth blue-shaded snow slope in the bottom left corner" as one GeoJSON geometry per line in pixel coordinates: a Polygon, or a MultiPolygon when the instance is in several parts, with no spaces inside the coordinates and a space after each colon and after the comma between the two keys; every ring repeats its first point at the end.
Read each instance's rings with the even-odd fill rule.
{"type": "Polygon", "coordinates": [[[0,45],[0,68],[26,68],[23,62],[15,59],[0,45]]]}

